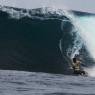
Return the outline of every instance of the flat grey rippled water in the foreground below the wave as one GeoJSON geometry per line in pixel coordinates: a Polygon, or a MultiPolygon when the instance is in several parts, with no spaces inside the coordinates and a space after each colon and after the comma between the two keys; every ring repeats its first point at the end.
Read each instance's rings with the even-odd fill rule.
{"type": "Polygon", "coordinates": [[[0,95],[95,95],[95,78],[0,70],[0,95]]]}

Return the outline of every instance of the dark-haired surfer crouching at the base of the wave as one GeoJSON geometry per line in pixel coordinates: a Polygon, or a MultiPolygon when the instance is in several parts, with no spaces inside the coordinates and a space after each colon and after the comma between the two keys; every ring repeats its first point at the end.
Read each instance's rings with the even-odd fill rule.
{"type": "Polygon", "coordinates": [[[72,62],[73,73],[76,75],[86,75],[86,72],[81,69],[80,63],[81,62],[78,58],[73,58],[72,62]]]}

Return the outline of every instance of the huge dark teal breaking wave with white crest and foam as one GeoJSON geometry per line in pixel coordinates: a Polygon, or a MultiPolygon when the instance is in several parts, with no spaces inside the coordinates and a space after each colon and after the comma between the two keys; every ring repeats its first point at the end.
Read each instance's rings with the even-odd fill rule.
{"type": "Polygon", "coordinates": [[[67,74],[68,57],[74,56],[86,67],[94,65],[94,17],[52,8],[0,7],[0,69],[67,74]]]}

